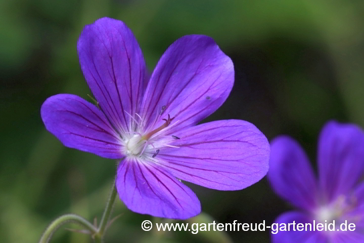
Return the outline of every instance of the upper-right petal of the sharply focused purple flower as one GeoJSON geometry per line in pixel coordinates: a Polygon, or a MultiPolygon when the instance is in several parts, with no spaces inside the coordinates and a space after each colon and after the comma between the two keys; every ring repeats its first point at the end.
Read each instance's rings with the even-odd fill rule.
{"type": "MultiPolygon", "coordinates": [[[[143,99],[143,117],[153,126],[162,107],[179,120],[170,130],[196,125],[228,98],[234,84],[231,59],[204,35],[177,39],[159,60],[143,99]]],[[[160,125],[164,121],[160,120],[160,125]]],[[[147,126],[148,127],[148,126],[147,126]]]]}

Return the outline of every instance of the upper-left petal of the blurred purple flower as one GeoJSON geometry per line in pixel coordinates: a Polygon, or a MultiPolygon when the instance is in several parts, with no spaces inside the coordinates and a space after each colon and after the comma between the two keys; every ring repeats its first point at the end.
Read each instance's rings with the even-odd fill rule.
{"type": "Polygon", "coordinates": [[[296,207],[316,207],[317,182],[306,153],[288,136],[279,136],[270,143],[269,171],[271,187],[296,207]]]}

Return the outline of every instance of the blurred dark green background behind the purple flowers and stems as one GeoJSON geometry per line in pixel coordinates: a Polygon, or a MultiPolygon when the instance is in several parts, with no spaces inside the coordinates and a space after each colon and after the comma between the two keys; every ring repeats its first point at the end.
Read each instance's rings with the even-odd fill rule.
{"type": "MultiPolygon", "coordinates": [[[[348,0],[0,1],[2,242],[37,242],[64,213],[90,221],[102,216],[114,161],[63,147],[45,131],[39,114],[49,96],[71,93],[87,99],[90,94],[76,54],[85,24],[103,16],[123,20],[151,71],[178,37],[213,37],[232,58],[236,78],[229,99],[207,120],[248,120],[269,140],[289,134],[315,166],[317,135],[327,120],[364,125],[363,13],[363,1],[348,0]]],[[[221,223],[270,224],[291,209],[265,178],[241,191],[189,186],[203,212],[221,223]]],[[[142,221],[152,217],[132,213],[118,200],[113,215],[122,213],[106,242],[217,242],[219,237],[142,231],[142,221]]],[[[227,234],[235,242],[269,242],[267,231],[227,234]]],[[[62,228],[51,242],[92,240],[62,228]]]]}

